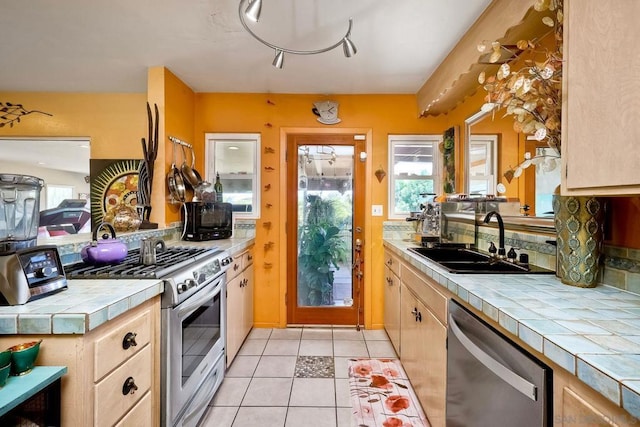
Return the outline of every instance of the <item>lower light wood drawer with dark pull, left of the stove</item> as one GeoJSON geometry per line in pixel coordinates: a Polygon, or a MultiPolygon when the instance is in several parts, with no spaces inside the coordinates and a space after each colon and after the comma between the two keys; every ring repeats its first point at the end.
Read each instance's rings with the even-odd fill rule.
{"type": "Polygon", "coordinates": [[[152,372],[151,345],[148,344],[100,381],[95,386],[95,425],[113,425],[133,408],[151,388],[152,372]],[[138,389],[124,394],[124,385],[130,377],[138,389]]]}

